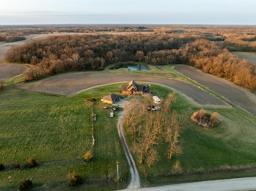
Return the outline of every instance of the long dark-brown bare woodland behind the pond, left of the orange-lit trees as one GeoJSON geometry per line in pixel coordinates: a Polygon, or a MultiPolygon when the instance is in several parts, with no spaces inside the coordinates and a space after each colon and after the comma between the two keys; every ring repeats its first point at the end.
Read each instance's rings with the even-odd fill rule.
{"type": "Polygon", "coordinates": [[[182,63],[176,49],[194,41],[176,34],[61,35],[50,36],[12,47],[6,53],[9,62],[35,65],[27,80],[73,70],[102,70],[108,64],[145,61],[150,64],[182,63]],[[172,51],[172,49],[174,51],[172,51]]]}

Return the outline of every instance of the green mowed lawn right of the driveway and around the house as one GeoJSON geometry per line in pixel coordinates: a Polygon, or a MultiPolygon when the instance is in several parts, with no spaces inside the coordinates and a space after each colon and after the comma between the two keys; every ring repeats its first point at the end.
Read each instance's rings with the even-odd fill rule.
{"type": "MultiPolygon", "coordinates": [[[[118,92],[121,84],[91,89],[78,97],[96,97],[118,92]]],[[[172,90],[151,85],[154,95],[164,98],[172,90]]],[[[256,172],[256,118],[241,108],[204,108],[220,114],[220,125],[213,129],[196,125],[190,119],[200,107],[176,94],[172,108],[182,116],[182,154],[168,159],[168,144],[159,144],[160,160],[152,167],[137,162],[142,185],[164,185],[190,181],[204,181],[234,177],[255,176],[256,172]],[[174,174],[174,163],[180,161],[180,174],[174,174]],[[144,169],[147,178],[144,177],[144,169]]],[[[133,139],[127,135],[130,144],[133,139]]],[[[136,159],[136,155],[134,155],[136,159]]],[[[138,161],[138,160],[137,160],[138,161]]]]}

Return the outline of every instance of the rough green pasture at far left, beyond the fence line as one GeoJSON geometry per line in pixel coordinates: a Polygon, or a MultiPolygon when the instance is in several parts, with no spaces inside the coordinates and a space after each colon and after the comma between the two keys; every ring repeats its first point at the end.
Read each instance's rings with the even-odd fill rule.
{"type": "Polygon", "coordinates": [[[59,184],[68,173],[88,168],[78,168],[84,165],[82,156],[92,145],[91,106],[87,102],[20,90],[1,92],[0,97],[0,163],[8,167],[31,157],[40,163],[36,169],[2,171],[0,190],[15,188],[25,177],[39,185],[59,184]]]}

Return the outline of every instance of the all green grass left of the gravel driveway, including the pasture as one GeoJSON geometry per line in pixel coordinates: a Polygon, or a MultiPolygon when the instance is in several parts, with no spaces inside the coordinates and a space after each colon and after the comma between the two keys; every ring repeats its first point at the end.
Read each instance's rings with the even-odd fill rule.
{"type": "Polygon", "coordinates": [[[68,174],[74,170],[84,179],[76,190],[115,190],[116,160],[120,161],[123,180],[120,188],[126,187],[129,173],[118,140],[116,116],[109,119],[109,111],[100,104],[94,106],[94,159],[85,163],[82,156],[92,145],[90,104],[83,99],[15,89],[0,92],[0,98],[0,163],[6,166],[0,173],[0,190],[16,190],[24,178],[32,178],[39,190],[70,190],[68,174]],[[9,167],[30,157],[40,165],[9,167]]]}

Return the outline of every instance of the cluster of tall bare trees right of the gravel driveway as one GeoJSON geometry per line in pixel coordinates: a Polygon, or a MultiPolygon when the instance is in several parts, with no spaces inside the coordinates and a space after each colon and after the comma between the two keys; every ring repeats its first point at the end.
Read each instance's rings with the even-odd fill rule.
{"type": "Polygon", "coordinates": [[[181,153],[182,128],[180,116],[171,109],[175,93],[167,96],[160,110],[146,112],[151,99],[151,96],[134,98],[132,104],[126,106],[124,120],[124,126],[134,140],[132,150],[138,155],[139,163],[146,163],[149,167],[159,160],[158,145],[163,142],[168,145],[166,157],[169,159],[173,154],[181,153]]]}

